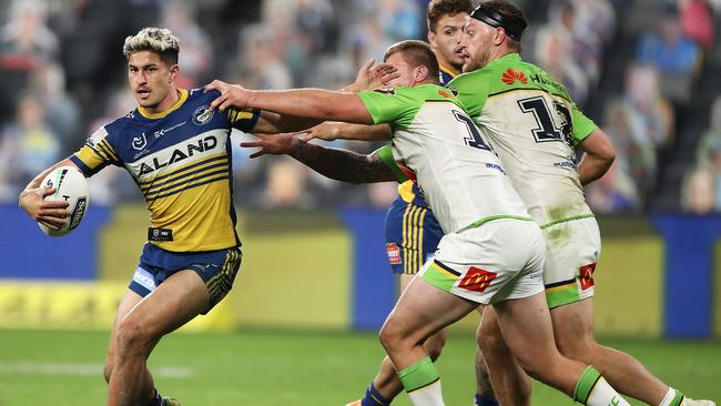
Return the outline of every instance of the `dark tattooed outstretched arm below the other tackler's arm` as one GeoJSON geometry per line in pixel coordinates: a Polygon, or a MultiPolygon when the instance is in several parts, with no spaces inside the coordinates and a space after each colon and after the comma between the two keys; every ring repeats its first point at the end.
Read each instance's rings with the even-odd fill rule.
{"type": "Polygon", "coordinates": [[[287,154],[317,173],[341,182],[394,182],[396,174],[377,153],[360,155],[352,151],[323,148],[298,140],[294,134],[260,135],[257,141],[241,143],[243,148],[260,148],[251,158],[287,154]]]}

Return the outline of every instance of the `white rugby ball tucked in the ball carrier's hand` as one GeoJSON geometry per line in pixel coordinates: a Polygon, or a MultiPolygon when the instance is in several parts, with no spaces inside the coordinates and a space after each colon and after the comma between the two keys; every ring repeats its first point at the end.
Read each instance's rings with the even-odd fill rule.
{"type": "Polygon", "coordinates": [[[60,166],[50,171],[40,184],[42,187],[55,187],[55,193],[45,196],[47,201],[65,201],[70,205],[70,217],[60,230],[52,230],[38,223],[40,230],[50,236],[61,236],[75,230],[88,211],[88,181],[74,166],[60,166]]]}

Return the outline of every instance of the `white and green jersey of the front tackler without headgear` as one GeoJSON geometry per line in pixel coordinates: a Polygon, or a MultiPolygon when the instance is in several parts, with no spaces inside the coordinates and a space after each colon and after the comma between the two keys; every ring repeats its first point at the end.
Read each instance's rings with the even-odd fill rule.
{"type": "Polygon", "coordinates": [[[500,160],[458,100],[437,84],[358,94],[393,129],[393,156],[416,177],[446,234],[499,217],[530,220],[500,160]]]}

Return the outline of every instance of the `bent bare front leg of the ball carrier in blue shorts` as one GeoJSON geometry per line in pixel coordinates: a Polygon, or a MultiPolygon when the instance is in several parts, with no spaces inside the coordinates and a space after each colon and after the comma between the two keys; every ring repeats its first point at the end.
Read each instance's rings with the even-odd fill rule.
{"type": "Polygon", "coordinates": [[[151,351],[164,334],[190,322],[207,306],[207,290],[193,271],[173,274],[138,303],[116,328],[108,405],[149,402],[153,396],[152,377],[145,363],[151,351]]]}

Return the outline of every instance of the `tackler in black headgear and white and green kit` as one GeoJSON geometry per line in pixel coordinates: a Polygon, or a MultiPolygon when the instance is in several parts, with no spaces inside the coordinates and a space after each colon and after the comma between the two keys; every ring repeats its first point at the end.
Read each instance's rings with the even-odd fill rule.
{"type": "MultiPolygon", "coordinates": [[[[597,367],[624,395],[649,405],[712,405],[692,400],[649,373],[628,354],[605,347],[593,335],[593,271],[601,245],[582,186],[601,177],[615,158],[611,143],[571,101],[566,88],[520,59],[528,26],[502,0],[485,1],[464,27],[468,59],[449,87],[504,163],[546,242],[544,283],[561,354],[597,367]],[[577,164],[576,148],[585,151],[577,164]]],[[[492,372],[512,359],[487,312],[479,334],[492,372]]],[[[497,392],[508,392],[494,382],[497,392]]],[[[522,395],[522,394],[519,394],[522,395]]],[[[515,404],[530,403],[530,397],[515,404]]]]}

